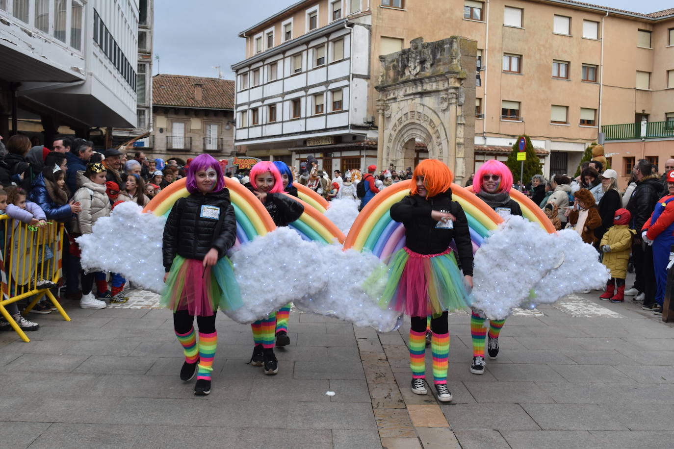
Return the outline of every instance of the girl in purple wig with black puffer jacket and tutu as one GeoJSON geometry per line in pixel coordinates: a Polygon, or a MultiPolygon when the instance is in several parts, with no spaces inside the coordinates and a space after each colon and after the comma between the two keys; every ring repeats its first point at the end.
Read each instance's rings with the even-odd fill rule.
{"type": "Polygon", "coordinates": [[[210,393],[213,358],[218,343],[218,306],[242,305],[239,285],[226,256],[237,236],[234,207],[224,187],[220,164],[212,156],[197,156],[187,170],[189,196],[175,202],[164,226],[164,291],[160,304],[173,310],[173,327],[183,346],[180,372],[187,382],[197,376],[194,394],[210,393]],[[194,331],[194,317],[199,339],[194,331]]]}

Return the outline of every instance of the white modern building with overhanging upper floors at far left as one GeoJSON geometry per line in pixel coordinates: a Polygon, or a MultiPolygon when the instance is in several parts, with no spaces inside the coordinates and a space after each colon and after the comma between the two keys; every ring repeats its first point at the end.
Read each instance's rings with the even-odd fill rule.
{"type": "Polygon", "coordinates": [[[0,134],[135,127],[138,20],[135,1],[0,0],[0,134]]]}

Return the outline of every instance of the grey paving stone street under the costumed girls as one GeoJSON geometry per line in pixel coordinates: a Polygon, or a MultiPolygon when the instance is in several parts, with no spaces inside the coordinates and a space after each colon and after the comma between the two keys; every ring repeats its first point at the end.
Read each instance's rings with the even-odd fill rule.
{"type": "Polygon", "coordinates": [[[673,325],[600,292],[508,318],[481,376],[468,315],[451,314],[450,404],[410,391],[408,322],[380,334],[296,310],[277,376],[246,364],[249,326],[218,314],[212,394],[193,396],[171,313],[129,293],[64,302],[71,322],[30,314],[30,343],[0,333],[0,448],[673,447],[673,325]]]}

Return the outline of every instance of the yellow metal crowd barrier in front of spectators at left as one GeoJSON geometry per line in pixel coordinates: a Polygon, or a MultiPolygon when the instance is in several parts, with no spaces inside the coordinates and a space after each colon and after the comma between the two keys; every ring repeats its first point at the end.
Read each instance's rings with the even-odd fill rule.
{"type": "MultiPolygon", "coordinates": [[[[30,312],[44,295],[59,310],[66,321],[70,317],[49,289],[38,288],[39,279],[58,283],[63,262],[63,223],[53,221],[41,228],[26,225],[21,221],[0,215],[0,277],[2,300],[0,314],[18,333],[23,341],[30,341],[16,324],[5,306],[34,296],[23,314],[30,312]],[[7,261],[7,263],[5,263],[7,261]]],[[[68,246],[66,245],[66,248],[68,246]]]]}

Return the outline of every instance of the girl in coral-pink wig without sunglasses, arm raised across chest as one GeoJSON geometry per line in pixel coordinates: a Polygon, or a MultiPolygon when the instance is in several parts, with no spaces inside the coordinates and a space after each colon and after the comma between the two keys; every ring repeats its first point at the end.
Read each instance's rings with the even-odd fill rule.
{"type": "MultiPolygon", "coordinates": [[[[251,168],[250,182],[244,185],[264,204],[276,226],[288,226],[304,212],[303,205],[283,193],[283,178],[273,162],[257,162],[251,168]]],[[[249,363],[252,366],[264,366],[264,374],[278,373],[278,360],[274,355],[276,312],[264,320],[253,322],[251,330],[254,347],[249,363]]]]}

